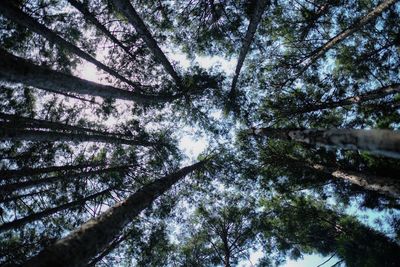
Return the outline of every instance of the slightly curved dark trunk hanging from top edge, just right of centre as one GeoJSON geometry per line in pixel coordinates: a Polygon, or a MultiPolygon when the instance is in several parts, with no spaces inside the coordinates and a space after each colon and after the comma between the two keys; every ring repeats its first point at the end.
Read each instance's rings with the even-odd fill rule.
{"type": "Polygon", "coordinates": [[[242,47],[239,52],[239,58],[236,65],[235,75],[233,76],[231,91],[229,92],[229,95],[232,98],[234,98],[235,96],[236,84],[239,80],[240,70],[243,67],[244,60],[246,59],[246,55],[249,52],[250,45],[253,41],[254,34],[257,31],[258,24],[261,21],[262,14],[264,13],[264,10],[267,7],[268,3],[269,0],[257,0],[257,4],[254,8],[254,13],[250,19],[250,23],[242,43],[242,47]]]}

